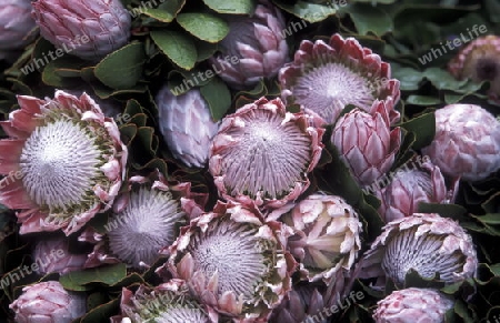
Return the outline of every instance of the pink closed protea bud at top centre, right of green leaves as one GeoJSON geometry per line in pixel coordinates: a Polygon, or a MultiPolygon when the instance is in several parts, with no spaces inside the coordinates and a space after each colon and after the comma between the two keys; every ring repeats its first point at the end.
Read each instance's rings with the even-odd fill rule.
{"type": "Polygon", "coordinates": [[[216,72],[230,87],[243,89],[262,78],[273,78],[289,60],[281,12],[260,0],[250,17],[228,18],[230,31],[218,43],[220,52],[210,59],[216,72]]]}

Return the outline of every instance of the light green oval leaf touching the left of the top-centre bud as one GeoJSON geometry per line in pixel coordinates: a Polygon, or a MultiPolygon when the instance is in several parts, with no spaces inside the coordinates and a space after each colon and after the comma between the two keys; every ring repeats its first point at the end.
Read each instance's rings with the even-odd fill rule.
{"type": "Polygon", "coordinates": [[[223,19],[209,13],[180,13],[177,22],[196,38],[212,43],[221,41],[229,32],[229,26],[223,19]]]}

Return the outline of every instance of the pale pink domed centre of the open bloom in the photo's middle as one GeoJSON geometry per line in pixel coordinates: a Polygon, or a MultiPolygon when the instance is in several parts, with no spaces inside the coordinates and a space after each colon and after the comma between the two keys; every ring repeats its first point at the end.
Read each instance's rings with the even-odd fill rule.
{"type": "Polygon", "coordinates": [[[244,127],[231,131],[238,141],[221,153],[229,192],[254,198],[263,191],[271,199],[287,194],[310,162],[310,138],[267,110],[251,111],[241,120],[244,127]]]}

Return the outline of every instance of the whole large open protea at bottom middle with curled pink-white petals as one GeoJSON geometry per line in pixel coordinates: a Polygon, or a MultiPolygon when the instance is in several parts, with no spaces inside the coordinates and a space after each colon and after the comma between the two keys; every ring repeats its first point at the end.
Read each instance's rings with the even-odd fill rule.
{"type": "Polygon", "coordinates": [[[296,262],[284,243],[281,223],[263,223],[254,208],[218,202],[181,229],[166,266],[219,313],[266,322],[291,289],[296,262]]]}

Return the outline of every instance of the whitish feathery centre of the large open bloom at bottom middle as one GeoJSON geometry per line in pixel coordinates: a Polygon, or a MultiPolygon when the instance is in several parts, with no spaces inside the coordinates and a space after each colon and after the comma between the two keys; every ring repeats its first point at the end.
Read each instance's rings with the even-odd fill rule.
{"type": "Polygon", "coordinates": [[[207,277],[218,273],[219,295],[232,291],[252,299],[256,285],[266,281],[268,266],[274,263],[267,259],[267,252],[272,254],[272,246],[269,241],[259,240],[257,233],[256,225],[219,221],[191,240],[188,252],[196,269],[207,277]]]}

